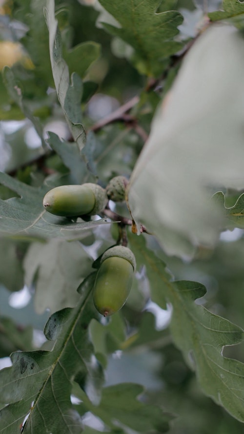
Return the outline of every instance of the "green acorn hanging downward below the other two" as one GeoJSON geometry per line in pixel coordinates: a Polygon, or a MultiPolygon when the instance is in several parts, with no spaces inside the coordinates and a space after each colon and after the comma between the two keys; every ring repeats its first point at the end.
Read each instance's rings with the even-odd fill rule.
{"type": "Polygon", "coordinates": [[[94,305],[103,316],[122,308],[129,296],[135,269],[135,256],[129,248],[114,246],[103,253],[93,289],[94,305]]]}

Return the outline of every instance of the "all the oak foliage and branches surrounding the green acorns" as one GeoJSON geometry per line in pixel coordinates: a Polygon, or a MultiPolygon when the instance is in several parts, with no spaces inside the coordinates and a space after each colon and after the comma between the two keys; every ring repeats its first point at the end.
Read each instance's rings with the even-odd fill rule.
{"type": "Polygon", "coordinates": [[[244,6],[225,0],[208,18],[227,24],[198,33],[186,1],[88,3],[7,2],[0,15],[1,38],[31,60],[6,61],[0,83],[4,119],[25,119],[2,133],[13,159],[0,172],[0,282],[2,294],[26,285],[32,299],[22,316],[1,299],[0,356],[11,353],[12,366],[0,370],[0,433],[191,434],[204,424],[241,434],[243,330],[231,320],[243,319],[243,238],[224,246],[219,235],[244,227],[244,6]],[[116,175],[130,177],[126,203],[94,219],[42,206],[54,186],[105,187],[116,175]],[[137,272],[107,319],[93,304],[92,265],[116,243],[134,252],[137,272]],[[155,312],[169,306],[160,328],[155,312]]]}

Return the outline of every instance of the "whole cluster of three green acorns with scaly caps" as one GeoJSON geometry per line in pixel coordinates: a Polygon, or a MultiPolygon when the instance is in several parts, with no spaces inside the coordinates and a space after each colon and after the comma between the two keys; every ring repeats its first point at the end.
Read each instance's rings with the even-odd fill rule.
{"type": "MultiPolygon", "coordinates": [[[[91,216],[102,212],[108,200],[125,200],[128,181],[123,176],[113,178],[106,189],[93,183],[52,188],[43,198],[43,207],[63,217],[91,216]]],[[[107,249],[101,259],[93,289],[96,309],[109,316],[122,308],[130,293],[136,260],[124,246],[107,249]]]]}

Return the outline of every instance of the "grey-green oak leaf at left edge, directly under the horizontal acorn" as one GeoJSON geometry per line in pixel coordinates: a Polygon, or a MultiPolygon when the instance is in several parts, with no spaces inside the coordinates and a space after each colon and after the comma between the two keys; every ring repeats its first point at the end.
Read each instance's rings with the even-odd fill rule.
{"type": "Polygon", "coordinates": [[[28,186],[6,173],[0,172],[0,183],[16,191],[20,198],[0,199],[0,235],[12,234],[17,238],[33,237],[46,239],[82,239],[83,231],[104,223],[104,220],[73,223],[66,217],[58,217],[45,211],[42,205],[44,195],[53,186],[40,188],[28,186]]]}

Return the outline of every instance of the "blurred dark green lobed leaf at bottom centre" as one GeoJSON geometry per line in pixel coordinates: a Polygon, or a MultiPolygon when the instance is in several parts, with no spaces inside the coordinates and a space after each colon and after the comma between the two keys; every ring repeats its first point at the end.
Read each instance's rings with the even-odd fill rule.
{"type": "Polygon", "coordinates": [[[140,433],[167,432],[172,416],[163,413],[158,406],[137,399],[143,392],[144,388],[139,384],[122,383],[104,388],[99,406],[94,406],[82,392],[80,398],[87,410],[102,419],[109,428],[124,426],[125,430],[129,427],[140,433]]]}

